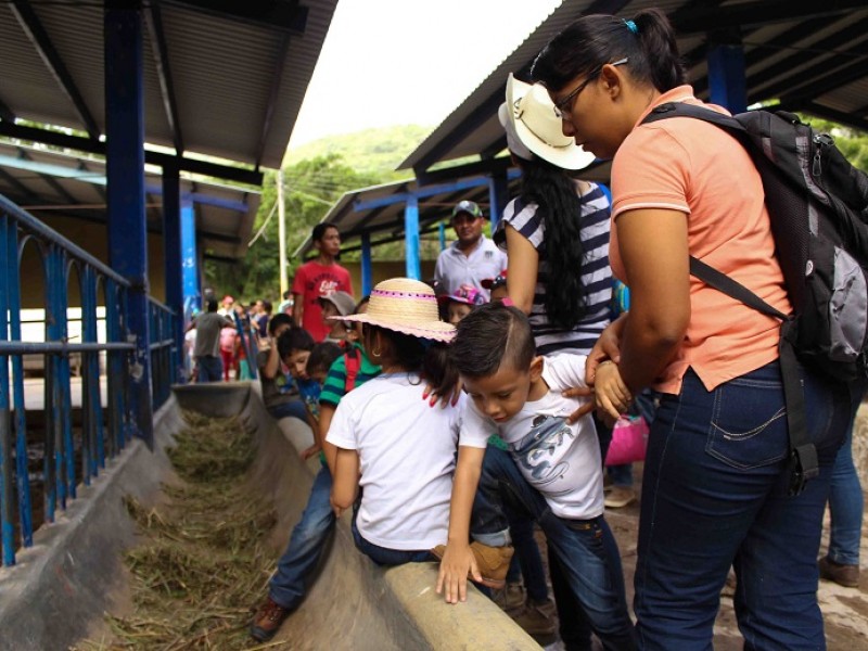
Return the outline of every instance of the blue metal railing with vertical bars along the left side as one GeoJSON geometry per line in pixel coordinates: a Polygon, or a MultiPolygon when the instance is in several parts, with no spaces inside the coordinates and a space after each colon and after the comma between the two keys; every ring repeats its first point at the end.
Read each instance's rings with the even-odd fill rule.
{"type": "MultiPolygon", "coordinates": [[[[15,563],[17,547],[33,545],[34,503],[27,468],[28,447],[44,450],[44,522],[65,509],[80,483],[90,484],[106,458],[129,442],[136,423],[129,409],[130,365],[135,348],[128,323],[130,283],[44,224],[0,196],[0,549],[3,565],[15,563]],[[38,247],[44,278],[43,342],[22,341],[21,260],[26,246],[38,247]],[[69,343],[68,281],[75,270],[81,298],[80,343],[69,343]],[[105,305],[105,343],[98,341],[99,290],[105,305]],[[106,356],[106,405],[101,399],[100,354],[106,356]],[[28,441],[24,355],[43,356],[44,434],[28,441]],[[71,355],[80,356],[80,434],[73,427],[71,355]],[[10,376],[11,370],[11,376],[10,376]],[[17,544],[16,544],[17,540],[17,544]]],[[[173,341],[177,316],[155,301],[149,304],[154,407],[169,396],[178,349],[173,341]],[[158,369],[158,370],[157,370],[158,369]]],[[[33,391],[33,390],[31,390],[33,391]]],[[[36,414],[33,414],[36,416],[36,414]]]]}

